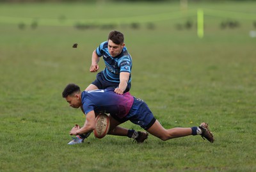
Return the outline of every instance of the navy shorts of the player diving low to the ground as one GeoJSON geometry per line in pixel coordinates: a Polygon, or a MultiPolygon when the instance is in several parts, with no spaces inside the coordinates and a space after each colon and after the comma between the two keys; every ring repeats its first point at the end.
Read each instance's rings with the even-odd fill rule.
{"type": "Polygon", "coordinates": [[[132,123],[140,125],[140,127],[145,130],[149,129],[156,121],[156,118],[150,111],[147,104],[140,98],[136,97],[134,97],[132,108],[127,116],[124,118],[118,118],[113,114],[111,114],[111,116],[120,123],[124,123],[125,121],[130,120],[132,123]]]}

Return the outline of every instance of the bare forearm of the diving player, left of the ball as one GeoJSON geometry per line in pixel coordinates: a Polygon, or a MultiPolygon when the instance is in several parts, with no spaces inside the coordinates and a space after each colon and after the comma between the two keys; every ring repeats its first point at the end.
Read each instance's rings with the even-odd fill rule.
{"type": "Polygon", "coordinates": [[[95,122],[95,113],[94,111],[90,111],[88,114],[86,114],[86,120],[84,122],[84,126],[79,129],[79,127],[75,126],[70,130],[70,135],[78,135],[78,134],[84,134],[91,130],[94,130],[96,127],[95,122]]]}

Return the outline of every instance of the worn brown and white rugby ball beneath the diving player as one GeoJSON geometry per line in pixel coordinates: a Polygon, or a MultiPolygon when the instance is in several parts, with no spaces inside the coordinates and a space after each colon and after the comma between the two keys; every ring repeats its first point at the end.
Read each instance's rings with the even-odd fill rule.
{"type": "Polygon", "coordinates": [[[106,136],[109,131],[109,116],[108,114],[98,114],[96,117],[96,128],[93,130],[94,136],[101,139],[106,136]]]}

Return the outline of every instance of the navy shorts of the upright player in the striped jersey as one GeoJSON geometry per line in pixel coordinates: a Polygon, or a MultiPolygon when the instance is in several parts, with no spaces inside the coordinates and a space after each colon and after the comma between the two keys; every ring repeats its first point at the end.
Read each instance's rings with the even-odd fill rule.
{"type": "MultiPolygon", "coordinates": [[[[104,90],[109,87],[117,88],[119,86],[119,82],[110,82],[110,81],[106,80],[102,71],[97,74],[96,79],[95,79],[95,81],[92,82],[92,84],[97,86],[97,88],[99,88],[99,90],[104,90]]],[[[131,82],[128,83],[127,88],[124,91],[124,93],[128,92],[130,89],[131,89],[131,82]]]]}

